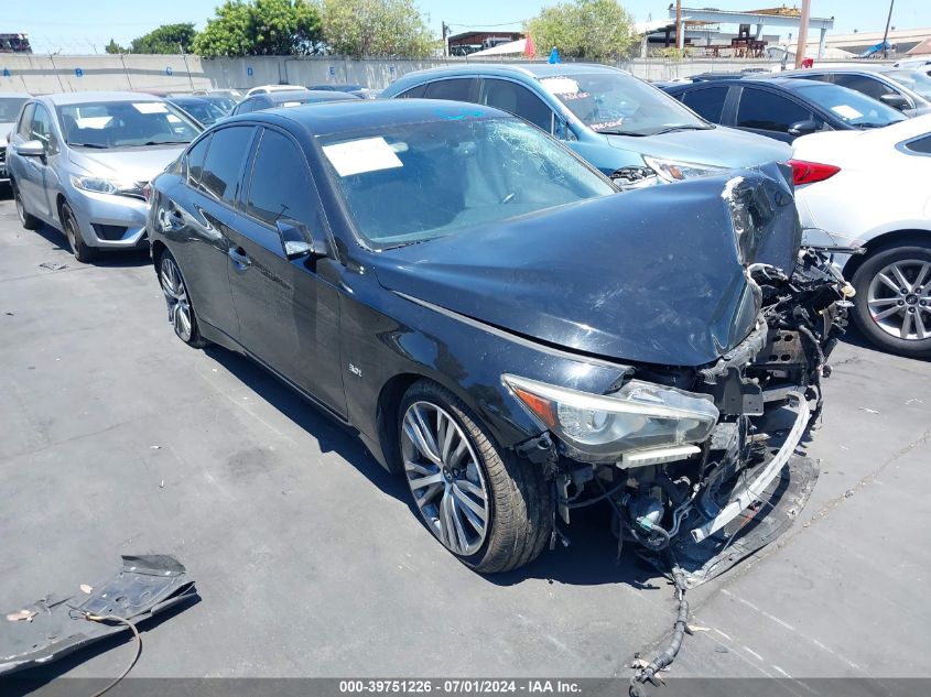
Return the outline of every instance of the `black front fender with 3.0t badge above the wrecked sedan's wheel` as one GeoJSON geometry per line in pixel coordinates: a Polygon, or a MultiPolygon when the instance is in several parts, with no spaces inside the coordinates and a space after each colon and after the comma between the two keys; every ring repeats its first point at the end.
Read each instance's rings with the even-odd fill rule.
{"type": "MultiPolygon", "coordinates": [[[[340,370],[349,421],[391,461],[378,404],[398,375],[426,378],[456,394],[506,448],[543,427],[501,383],[509,372],[595,393],[609,391],[627,366],[552,349],[381,287],[374,274],[347,274],[340,296],[340,370]]],[[[400,395],[399,395],[400,396],[400,395]]],[[[380,458],[381,459],[381,458],[380,458]]]]}

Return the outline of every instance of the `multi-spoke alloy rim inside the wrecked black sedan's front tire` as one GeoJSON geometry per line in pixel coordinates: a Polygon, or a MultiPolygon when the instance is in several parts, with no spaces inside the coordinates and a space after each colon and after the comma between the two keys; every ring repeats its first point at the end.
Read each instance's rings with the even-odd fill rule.
{"type": "Polygon", "coordinates": [[[478,552],[490,523],[489,492],[458,423],[436,404],[414,402],[404,413],[401,455],[408,486],[436,538],[461,556],[478,552]]]}

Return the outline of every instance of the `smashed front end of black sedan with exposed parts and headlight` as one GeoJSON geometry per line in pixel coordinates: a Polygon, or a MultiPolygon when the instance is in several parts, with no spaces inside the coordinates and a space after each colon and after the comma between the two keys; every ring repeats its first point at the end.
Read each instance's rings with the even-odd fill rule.
{"type": "Polygon", "coordinates": [[[504,377],[555,436],[562,520],[607,501],[618,554],[627,542],[651,558],[672,553],[686,587],[771,542],[806,502],[818,467],[800,445],[820,417],[851,294],[822,252],[773,233],[772,192],[760,188],[771,181],[739,179],[724,198],[753,296],[741,312],[756,313],[743,340],[711,364],[635,367],[604,395],[504,377]]]}

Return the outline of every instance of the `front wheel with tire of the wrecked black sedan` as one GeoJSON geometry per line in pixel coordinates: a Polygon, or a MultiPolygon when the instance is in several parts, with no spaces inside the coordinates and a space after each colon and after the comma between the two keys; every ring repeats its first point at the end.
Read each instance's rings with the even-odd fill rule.
{"type": "Polygon", "coordinates": [[[552,482],[498,446],[462,400],[421,380],[401,401],[398,429],[414,507],[461,562],[494,574],[543,551],[553,524],[552,482]]]}

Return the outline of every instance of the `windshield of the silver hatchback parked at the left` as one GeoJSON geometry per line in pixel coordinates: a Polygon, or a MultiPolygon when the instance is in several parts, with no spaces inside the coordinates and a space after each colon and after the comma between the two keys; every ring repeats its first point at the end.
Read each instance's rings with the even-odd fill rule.
{"type": "Polygon", "coordinates": [[[183,111],[164,101],[62,105],[58,119],[73,148],[139,148],[190,143],[202,131],[183,111]]]}

